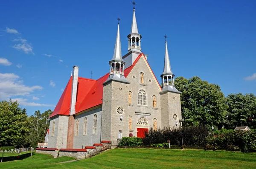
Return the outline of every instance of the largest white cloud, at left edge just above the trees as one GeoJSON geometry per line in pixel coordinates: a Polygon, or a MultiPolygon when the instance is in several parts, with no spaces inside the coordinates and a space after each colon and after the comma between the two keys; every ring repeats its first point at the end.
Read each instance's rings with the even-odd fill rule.
{"type": "Polygon", "coordinates": [[[25,96],[35,90],[42,90],[41,86],[26,86],[20,77],[14,73],[0,73],[0,100],[13,96],[25,96]]]}

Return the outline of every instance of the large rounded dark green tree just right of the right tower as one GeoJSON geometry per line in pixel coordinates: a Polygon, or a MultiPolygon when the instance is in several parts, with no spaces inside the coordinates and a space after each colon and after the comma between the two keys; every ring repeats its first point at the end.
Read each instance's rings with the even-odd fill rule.
{"type": "Polygon", "coordinates": [[[175,87],[182,92],[181,110],[185,124],[222,127],[227,104],[219,85],[194,76],[191,79],[177,77],[175,87]]]}

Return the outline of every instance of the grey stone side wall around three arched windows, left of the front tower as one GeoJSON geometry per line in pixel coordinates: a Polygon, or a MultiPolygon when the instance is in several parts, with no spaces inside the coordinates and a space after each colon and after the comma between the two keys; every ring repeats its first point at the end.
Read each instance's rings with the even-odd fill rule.
{"type": "Polygon", "coordinates": [[[74,144],[73,149],[81,149],[85,146],[92,146],[95,143],[100,143],[101,136],[101,121],[102,121],[102,107],[90,110],[75,117],[74,127],[74,144]],[[93,117],[97,115],[97,133],[93,134],[93,117]],[[84,135],[84,117],[87,117],[87,133],[84,135]],[[76,135],[76,120],[79,120],[79,131],[76,135]]]}

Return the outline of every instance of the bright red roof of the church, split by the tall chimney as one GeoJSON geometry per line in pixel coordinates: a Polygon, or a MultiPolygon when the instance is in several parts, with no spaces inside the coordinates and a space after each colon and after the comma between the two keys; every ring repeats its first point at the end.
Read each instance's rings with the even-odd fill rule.
{"type": "MultiPolygon", "coordinates": [[[[139,61],[143,54],[140,54],[134,61],[134,64],[124,70],[125,77],[134,68],[134,65],[139,61]]],[[[103,97],[103,85],[102,83],[108,79],[109,73],[105,74],[97,80],[78,78],[78,92],[76,96],[76,113],[90,109],[92,107],[102,104],[103,97]]],[[[159,85],[160,86],[160,85],[159,85]]],[[[72,76],[70,77],[65,90],[63,91],[58,104],[56,105],[54,111],[49,118],[55,115],[69,115],[70,113],[70,100],[71,100],[71,90],[72,90],[72,76]]]]}

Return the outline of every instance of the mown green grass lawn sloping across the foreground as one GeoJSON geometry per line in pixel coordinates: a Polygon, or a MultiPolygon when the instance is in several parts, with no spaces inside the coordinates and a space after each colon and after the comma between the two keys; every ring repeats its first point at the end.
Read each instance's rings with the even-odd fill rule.
{"type": "Polygon", "coordinates": [[[73,158],[52,158],[36,154],[21,161],[0,163],[0,168],[54,169],[165,169],[165,168],[239,168],[256,167],[256,153],[185,149],[112,149],[93,158],[72,163],[57,163],[73,158]],[[47,165],[45,165],[47,164],[47,165]]]}

